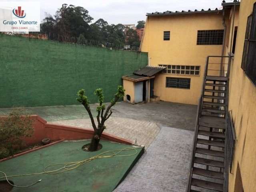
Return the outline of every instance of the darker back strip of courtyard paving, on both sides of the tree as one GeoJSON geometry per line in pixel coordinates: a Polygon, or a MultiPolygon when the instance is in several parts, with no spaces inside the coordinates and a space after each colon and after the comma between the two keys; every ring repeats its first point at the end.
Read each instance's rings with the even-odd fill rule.
{"type": "MultiPolygon", "coordinates": [[[[96,117],[96,107],[97,104],[90,105],[94,117],[96,117]]],[[[150,121],[164,126],[194,130],[196,108],[196,105],[162,101],[136,105],[118,102],[112,108],[112,117],[150,121]]],[[[28,114],[37,114],[48,122],[89,118],[82,105],[27,107],[25,109],[28,114]]],[[[12,108],[0,108],[0,116],[8,115],[11,110],[12,108]]]]}

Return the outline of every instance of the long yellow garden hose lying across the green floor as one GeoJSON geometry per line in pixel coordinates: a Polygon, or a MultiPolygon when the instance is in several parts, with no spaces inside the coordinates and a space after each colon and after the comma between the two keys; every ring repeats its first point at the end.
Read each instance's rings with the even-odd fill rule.
{"type": "MultiPolygon", "coordinates": [[[[140,147],[141,148],[141,147],[140,147]]],[[[91,158],[88,158],[88,159],[85,159],[85,160],[82,160],[82,161],[77,161],[77,162],[68,162],[68,163],[58,163],[58,164],[52,164],[52,165],[48,165],[44,168],[44,172],[41,172],[41,173],[32,173],[32,174],[21,174],[21,175],[11,175],[11,176],[7,176],[5,172],[2,172],[0,171],[0,173],[4,174],[3,177],[0,177],[0,179],[3,179],[5,178],[6,181],[8,182],[8,184],[14,186],[14,187],[18,187],[18,188],[25,188],[25,187],[30,187],[34,184],[37,184],[38,182],[41,181],[38,180],[37,182],[34,182],[33,184],[30,184],[28,186],[16,186],[12,183],[9,182],[8,178],[10,177],[20,177],[20,176],[29,176],[29,175],[40,175],[40,174],[59,174],[59,173],[62,173],[62,172],[66,172],[66,171],[70,171],[70,170],[73,170],[73,169],[76,169],[94,159],[98,159],[98,158],[110,158],[110,157],[125,157],[125,156],[133,156],[135,154],[138,153],[138,148],[132,148],[132,147],[126,147],[126,148],[123,148],[123,149],[120,149],[120,150],[110,150],[110,151],[106,151],[106,152],[103,152],[103,153],[100,153],[94,157],[91,157],[91,158]],[[118,155],[120,152],[122,151],[128,151],[128,150],[134,150],[135,152],[133,154],[128,154],[128,155],[118,155]],[[107,154],[107,153],[110,153],[109,155],[104,155],[104,154],[107,154]],[[47,171],[46,169],[49,168],[49,167],[52,167],[52,166],[57,166],[57,165],[64,165],[63,167],[61,168],[58,168],[56,170],[49,170],[47,171]]]]}

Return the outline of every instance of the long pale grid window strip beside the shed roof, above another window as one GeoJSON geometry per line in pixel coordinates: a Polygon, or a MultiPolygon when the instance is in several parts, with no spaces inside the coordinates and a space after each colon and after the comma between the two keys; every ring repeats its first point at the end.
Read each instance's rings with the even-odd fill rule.
{"type": "Polygon", "coordinates": [[[177,75],[200,75],[200,66],[189,65],[158,65],[160,67],[166,67],[163,73],[177,74],[177,75]]]}

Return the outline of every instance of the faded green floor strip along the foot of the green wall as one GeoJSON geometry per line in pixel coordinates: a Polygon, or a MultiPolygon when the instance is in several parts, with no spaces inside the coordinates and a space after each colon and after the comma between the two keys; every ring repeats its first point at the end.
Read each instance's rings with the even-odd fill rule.
{"type": "MultiPolygon", "coordinates": [[[[90,105],[92,115],[96,117],[96,104],[90,105]]],[[[67,106],[47,106],[47,107],[26,107],[27,114],[39,115],[44,120],[60,121],[89,118],[87,111],[82,105],[67,105],[67,106]]],[[[12,108],[0,108],[0,116],[8,115],[12,108]]]]}

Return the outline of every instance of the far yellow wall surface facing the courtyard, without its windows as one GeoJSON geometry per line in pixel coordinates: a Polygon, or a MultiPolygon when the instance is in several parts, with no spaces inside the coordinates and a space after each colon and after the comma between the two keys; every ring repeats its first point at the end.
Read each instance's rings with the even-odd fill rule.
{"type": "Polygon", "coordinates": [[[141,50],[148,52],[150,66],[158,64],[201,66],[200,76],[159,74],[155,79],[154,94],[161,100],[198,104],[206,57],[221,55],[222,45],[196,45],[198,30],[224,29],[222,12],[147,18],[141,50]],[[170,31],[170,41],[163,40],[170,31]],[[191,78],[190,89],[166,88],[166,76],[191,78]]]}

